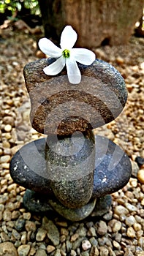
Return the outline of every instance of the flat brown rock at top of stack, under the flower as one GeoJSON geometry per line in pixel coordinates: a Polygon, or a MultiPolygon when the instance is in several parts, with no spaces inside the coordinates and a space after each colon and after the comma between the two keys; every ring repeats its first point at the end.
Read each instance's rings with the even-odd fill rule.
{"type": "Polygon", "coordinates": [[[85,132],[113,121],[126,104],[127,91],[121,74],[105,61],[96,59],[91,66],[78,64],[79,84],[69,83],[64,69],[48,76],[43,68],[55,59],[41,59],[24,68],[31,99],[31,124],[46,135],[85,132]]]}

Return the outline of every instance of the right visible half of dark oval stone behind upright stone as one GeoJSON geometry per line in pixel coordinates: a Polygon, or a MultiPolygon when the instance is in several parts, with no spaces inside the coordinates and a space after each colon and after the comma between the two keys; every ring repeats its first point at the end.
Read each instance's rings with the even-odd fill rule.
{"type": "Polygon", "coordinates": [[[113,141],[96,135],[93,197],[102,197],[122,189],[132,174],[126,153],[113,141]]]}

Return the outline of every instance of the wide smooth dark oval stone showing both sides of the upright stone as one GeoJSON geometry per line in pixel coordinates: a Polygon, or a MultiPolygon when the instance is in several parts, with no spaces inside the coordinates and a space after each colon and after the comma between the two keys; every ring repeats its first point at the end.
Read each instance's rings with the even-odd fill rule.
{"type": "MultiPolygon", "coordinates": [[[[96,156],[92,197],[102,197],[126,185],[132,173],[124,151],[111,140],[95,136],[96,156]]],[[[45,138],[26,144],[12,157],[10,174],[15,183],[52,197],[51,180],[45,163],[45,138]]]]}

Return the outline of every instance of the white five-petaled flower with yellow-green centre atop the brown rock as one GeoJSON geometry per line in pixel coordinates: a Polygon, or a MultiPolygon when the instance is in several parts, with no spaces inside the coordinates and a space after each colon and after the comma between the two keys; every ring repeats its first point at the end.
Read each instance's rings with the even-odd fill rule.
{"type": "Polygon", "coordinates": [[[39,39],[39,48],[51,58],[58,58],[53,64],[45,67],[46,75],[57,75],[66,65],[70,83],[80,83],[81,75],[77,62],[91,65],[95,60],[95,54],[85,48],[72,48],[77,40],[77,33],[72,26],[66,26],[61,33],[61,48],[58,48],[49,39],[39,39]],[[76,62],[77,61],[77,62],[76,62]]]}

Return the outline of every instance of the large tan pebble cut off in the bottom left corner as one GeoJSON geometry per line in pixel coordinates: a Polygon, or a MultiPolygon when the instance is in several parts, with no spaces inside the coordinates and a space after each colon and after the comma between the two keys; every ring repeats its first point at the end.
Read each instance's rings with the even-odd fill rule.
{"type": "Polygon", "coordinates": [[[10,242],[0,244],[0,256],[18,256],[17,249],[10,242]]]}

